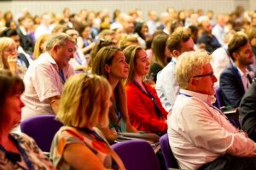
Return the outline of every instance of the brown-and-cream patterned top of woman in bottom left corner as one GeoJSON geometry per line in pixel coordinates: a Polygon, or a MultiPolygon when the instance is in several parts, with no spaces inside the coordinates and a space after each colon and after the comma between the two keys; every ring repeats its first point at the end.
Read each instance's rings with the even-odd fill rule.
{"type": "MultiPolygon", "coordinates": [[[[44,156],[44,153],[38,148],[38,145],[32,138],[28,137],[25,133],[10,133],[10,135],[20,144],[20,147],[25,150],[26,156],[28,156],[28,160],[32,163],[34,170],[55,169],[52,162],[44,156]]],[[[24,158],[22,156],[19,157],[21,158],[21,161],[17,161],[17,163],[22,167],[26,167],[26,161],[24,161],[24,158]]],[[[6,156],[6,153],[3,150],[0,150],[1,170],[22,169],[17,163],[10,161],[6,156]]]]}

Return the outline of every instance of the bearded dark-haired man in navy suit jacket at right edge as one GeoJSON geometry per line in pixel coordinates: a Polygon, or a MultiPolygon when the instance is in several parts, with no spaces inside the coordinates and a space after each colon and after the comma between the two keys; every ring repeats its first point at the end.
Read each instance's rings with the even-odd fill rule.
{"type": "Polygon", "coordinates": [[[253,64],[253,50],[247,36],[238,32],[230,40],[228,52],[234,63],[221,73],[219,88],[224,105],[238,107],[243,94],[252,83],[247,66],[253,64]]]}

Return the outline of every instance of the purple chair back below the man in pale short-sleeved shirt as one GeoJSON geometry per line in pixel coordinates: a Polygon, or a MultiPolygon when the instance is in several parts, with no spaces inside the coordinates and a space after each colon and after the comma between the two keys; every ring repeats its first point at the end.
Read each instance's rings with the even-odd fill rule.
{"type": "Polygon", "coordinates": [[[49,152],[52,139],[61,126],[63,124],[55,120],[55,115],[33,116],[20,122],[21,132],[32,137],[44,152],[49,152]]]}

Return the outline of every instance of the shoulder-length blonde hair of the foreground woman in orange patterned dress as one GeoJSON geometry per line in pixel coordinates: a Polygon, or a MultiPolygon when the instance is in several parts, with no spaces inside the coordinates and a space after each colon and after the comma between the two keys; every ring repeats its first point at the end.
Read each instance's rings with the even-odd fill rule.
{"type": "Polygon", "coordinates": [[[85,73],[69,77],[56,117],[72,127],[108,127],[111,94],[112,88],[104,77],[85,73]]]}

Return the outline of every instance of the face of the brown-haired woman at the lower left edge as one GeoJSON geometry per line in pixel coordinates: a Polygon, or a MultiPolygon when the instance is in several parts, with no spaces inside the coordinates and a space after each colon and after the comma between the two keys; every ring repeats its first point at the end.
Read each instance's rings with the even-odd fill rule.
{"type": "Polygon", "coordinates": [[[15,127],[21,119],[21,108],[24,103],[20,99],[21,92],[13,95],[8,95],[3,103],[4,122],[12,123],[15,127]]]}

